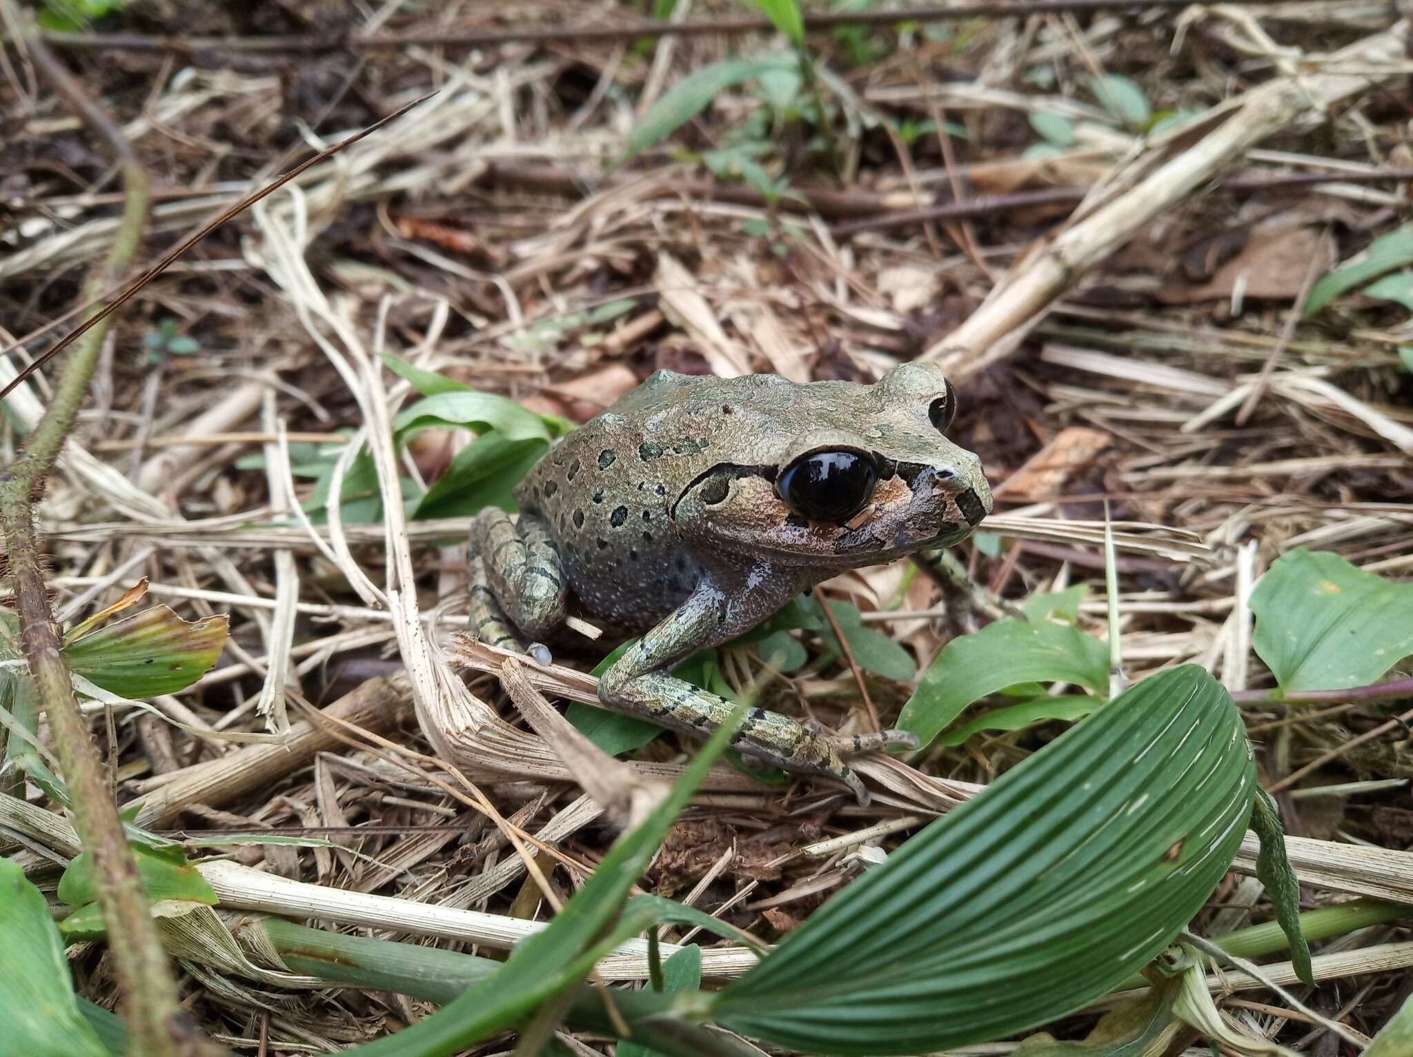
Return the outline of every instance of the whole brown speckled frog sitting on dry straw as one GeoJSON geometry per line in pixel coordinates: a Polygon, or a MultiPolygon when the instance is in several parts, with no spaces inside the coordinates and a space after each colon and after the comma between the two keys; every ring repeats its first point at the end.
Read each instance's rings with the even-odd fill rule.
{"type": "MultiPolygon", "coordinates": [[[[657,371],[472,519],[469,620],[483,642],[541,655],[569,597],[642,632],[603,672],[602,706],[708,735],[732,703],[673,675],[839,573],[964,540],[991,514],[981,460],[947,439],[957,392],[907,361],[872,384],[657,371]]],[[[753,707],[745,758],[869,792],[848,761],[916,748],[900,730],[831,737],[753,707]]]]}

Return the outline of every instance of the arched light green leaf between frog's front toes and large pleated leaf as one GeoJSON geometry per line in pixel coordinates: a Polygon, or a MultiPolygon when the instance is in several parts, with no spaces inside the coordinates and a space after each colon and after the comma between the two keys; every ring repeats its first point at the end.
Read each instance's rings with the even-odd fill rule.
{"type": "Polygon", "coordinates": [[[1015,683],[1063,680],[1098,693],[1109,686],[1109,648],[1075,628],[1003,620],[942,648],[897,725],[926,747],[962,708],[1015,683]]]}

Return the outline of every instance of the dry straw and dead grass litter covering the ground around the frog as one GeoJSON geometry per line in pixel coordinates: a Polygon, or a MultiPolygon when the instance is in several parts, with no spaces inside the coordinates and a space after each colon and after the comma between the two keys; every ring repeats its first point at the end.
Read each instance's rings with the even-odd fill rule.
{"type": "MultiPolygon", "coordinates": [[[[154,0],[123,18],[138,31],[212,35],[328,28],[304,23],[297,7],[232,14],[154,0]]],[[[585,7],[530,0],[510,17],[585,18],[585,7]]],[[[694,17],[732,10],[691,7],[694,17]]],[[[355,32],[496,23],[480,6],[331,6],[326,17],[355,32]]],[[[107,735],[99,721],[120,799],[147,793],[151,826],[312,833],[338,845],[249,845],[233,862],[211,862],[203,872],[219,881],[226,909],[462,950],[506,948],[612,841],[616,827],[581,789],[592,758],[575,756],[533,704],[524,714],[510,701],[495,651],[455,636],[465,627],[466,521],[408,522],[397,495],[398,478],[432,481],[469,437],[425,435],[396,452],[389,423],[415,394],[379,366],[383,351],[575,421],[658,367],[868,380],[897,360],[941,356],[965,380],[954,436],[982,456],[998,491],[991,528],[1015,545],[995,557],[959,550],[979,586],[972,596],[907,579],[906,563],[824,590],[855,601],[920,665],[989,620],[998,596],[1075,583],[1094,588],[1081,627],[1104,636],[1108,501],[1122,522],[1128,675],[1197,662],[1231,690],[1267,686],[1249,649],[1246,596],[1272,560],[1307,546],[1413,576],[1413,385],[1399,367],[1407,312],[1345,298],[1287,326],[1314,268],[1407,212],[1405,185],[1361,181],[1413,162],[1406,25],[1395,18],[1382,3],[1290,3],[1201,18],[975,21],[941,40],[914,30],[906,49],[875,31],[866,38],[889,47],[858,66],[844,42],[812,38],[853,100],[845,171],[875,213],[947,200],[957,181],[966,196],[1085,193],[1068,217],[1068,206],[1029,206],[855,234],[842,215],[715,195],[699,165],[666,150],[606,175],[636,116],[682,72],[760,38],[668,38],[656,58],[633,42],[469,54],[408,45],[356,58],[75,54],[154,176],[150,255],[309,144],[438,89],[206,240],[114,326],[42,507],[58,608],[88,612],[146,576],[160,600],[187,615],[229,611],[233,627],[222,665],[155,701],[160,715],[117,711],[107,735]],[[1027,80],[1036,69],[1051,71],[1054,85],[1027,80]],[[1154,109],[1207,116],[1136,137],[1085,90],[1098,71],[1137,80],[1154,109]],[[1023,157],[1037,138],[1026,120],[1034,113],[1074,121],[1074,144],[1023,157]],[[947,147],[961,168],[945,167],[935,137],[886,135],[872,124],[879,114],[961,123],[968,138],[947,147]],[[1311,171],[1348,179],[1201,193],[1236,172],[1311,171]],[[632,308],[585,322],[619,299],[632,308]],[[144,339],[167,319],[199,350],[153,364],[144,339]],[[309,483],[292,446],[345,445],[349,435],[372,447],[387,517],[314,524],[300,512],[309,483]]],[[[8,346],[73,306],[78,265],[112,237],[116,203],[99,148],[62,104],[34,92],[13,52],[3,73],[8,346]]],[[[726,93],[677,143],[711,147],[759,106],[726,93]]],[[[794,130],[780,143],[797,183],[828,183],[794,130]]],[[[0,363],[0,380],[16,361],[0,363]]],[[[37,377],[11,398],[4,454],[14,422],[32,422],[47,392],[37,377]]],[[[355,449],[342,450],[346,466],[355,449]]],[[[582,670],[602,651],[572,639],[557,651],[568,665],[524,662],[521,680],[551,700],[592,701],[582,670]]],[[[745,653],[723,663],[738,684],[756,668],[745,653]]],[[[870,677],[869,693],[887,725],[909,687],[870,677]]],[[[805,707],[834,728],[865,723],[848,669],[812,672],[781,696],[781,707],[805,707]]],[[[1253,706],[1246,717],[1260,728],[1270,783],[1385,713],[1253,706]]],[[[896,847],[909,826],[1050,732],[870,761],[869,809],[810,780],[763,792],[721,766],[644,885],[770,941],[861,868],[861,844],[896,847]]],[[[632,814],[690,749],[673,737],[654,742],[605,779],[601,800],[619,797],[619,817],[632,814]]],[[[1400,731],[1341,752],[1310,782],[1327,786],[1323,795],[1283,803],[1307,838],[1296,844],[1308,903],[1345,893],[1413,902],[1407,782],[1345,785],[1410,773],[1400,731]]],[[[45,837],[32,814],[0,824],[72,852],[72,834],[45,837]]],[[[38,852],[16,854],[52,885],[38,852]]],[[[1198,924],[1265,920],[1253,883],[1234,874],[1198,924]]],[[[203,926],[208,936],[219,920],[203,926]]],[[[1331,951],[1337,962],[1307,1003],[1334,1015],[1356,996],[1347,1023],[1372,1034],[1413,991],[1413,950],[1395,943],[1399,934],[1385,926],[1337,943],[1348,950],[1331,951]],[[1352,988],[1338,982],[1355,974],[1352,988]]],[[[246,971],[242,958],[192,955],[188,967],[215,971],[191,970],[187,988],[198,1020],[247,1049],[267,1037],[263,1051],[328,1051],[424,1012],[384,993],[298,989],[308,981],[283,989],[290,979],[246,971]]],[[[704,965],[719,979],[750,960],[740,947],[708,948],[704,965]]],[[[100,948],[73,962],[83,992],[110,1003],[100,948]]],[[[644,947],[625,948],[601,972],[643,978],[644,947]]],[[[1290,1023],[1241,1015],[1256,1030],[1290,1023]]],[[[1286,1026],[1280,1037],[1300,1046],[1304,1029],[1286,1026]]],[[[1311,1051],[1335,1053],[1327,1044],[1311,1051]]]]}

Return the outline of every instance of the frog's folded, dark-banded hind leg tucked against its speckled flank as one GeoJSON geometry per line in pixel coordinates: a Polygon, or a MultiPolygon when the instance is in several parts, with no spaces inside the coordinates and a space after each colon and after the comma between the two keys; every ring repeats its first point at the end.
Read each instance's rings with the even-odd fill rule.
{"type": "MultiPolygon", "coordinates": [[[[564,566],[544,518],[524,512],[517,526],[503,509],[483,509],[471,522],[473,567],[478,560],[483,577],[478,579],[473,569],[473,610],[496,604],[497,612],[533,638],[548,638],[564,624],[568,598],[564,566]],[[478,583],[489,590],[476,591],[478,583]]],[[[490,641],[485,634],[483,638],[490,641]]]]}

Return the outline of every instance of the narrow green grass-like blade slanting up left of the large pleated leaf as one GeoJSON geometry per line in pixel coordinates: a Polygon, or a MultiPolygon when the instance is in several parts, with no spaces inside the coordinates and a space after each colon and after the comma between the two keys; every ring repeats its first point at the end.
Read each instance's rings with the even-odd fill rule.
{"type": "Polygon", "coordinates": [[[509,1027],[564,988],[578,984],[606,953],[608,944],[625,933],[632,934],[629,929],[646,927],[657,916],[656,905],[634,917],[620,914],[625,900],[745,715],[746,706],[738,706],[706,739],[667,799],[609,850],[550,927],[521,941],[504,968],[411,1027],[346,1053],[350,1057],[454,1054],[509,1027]]]}

